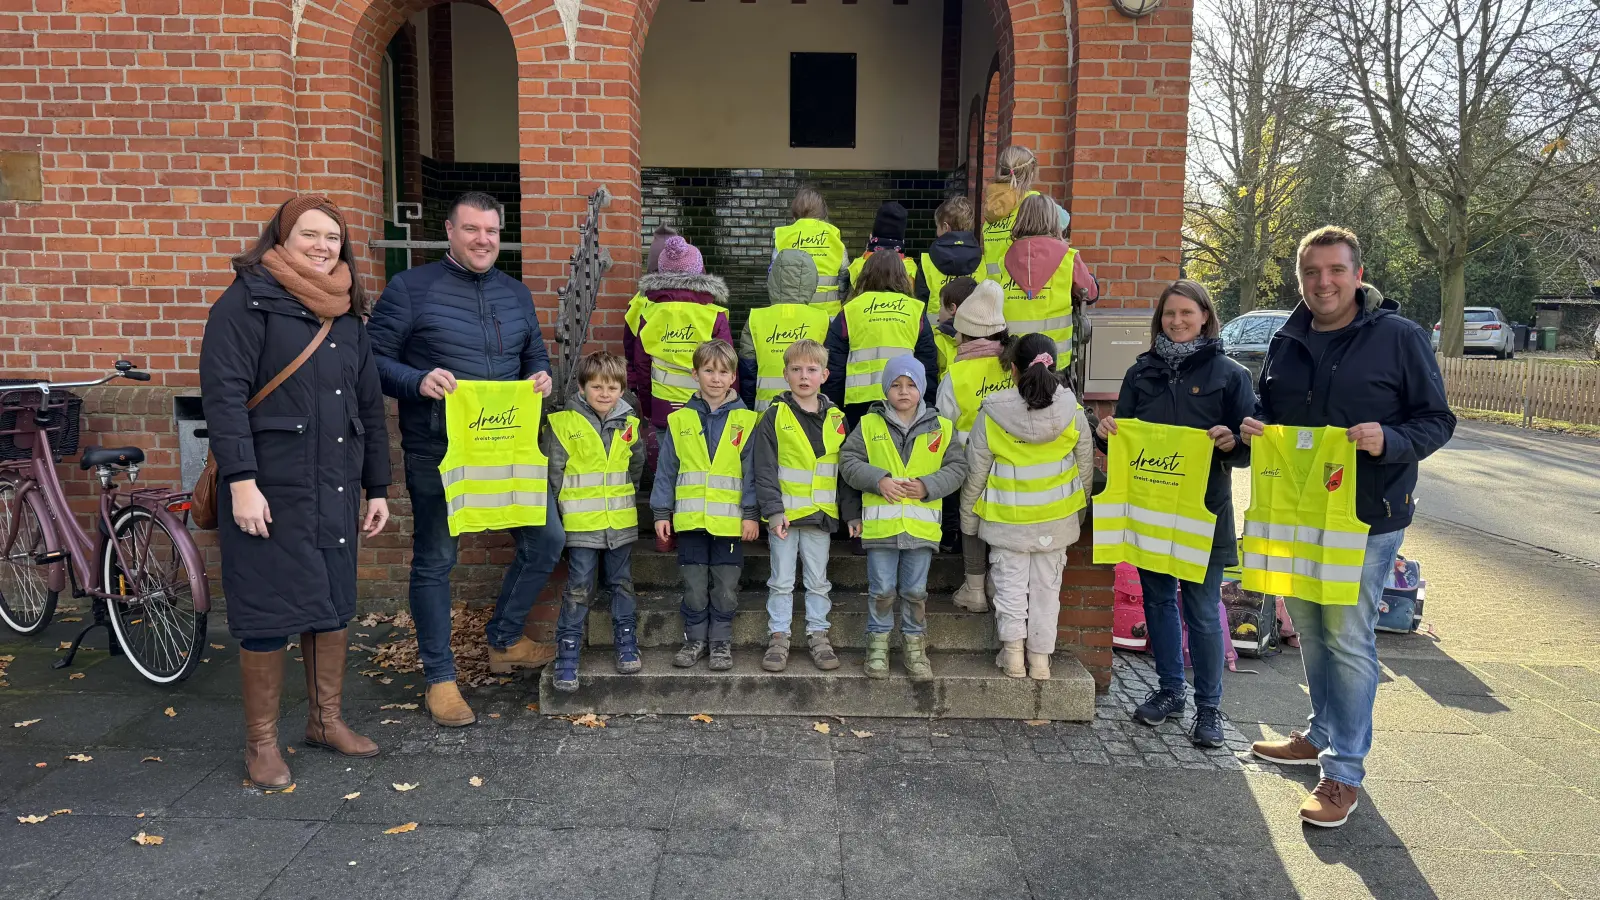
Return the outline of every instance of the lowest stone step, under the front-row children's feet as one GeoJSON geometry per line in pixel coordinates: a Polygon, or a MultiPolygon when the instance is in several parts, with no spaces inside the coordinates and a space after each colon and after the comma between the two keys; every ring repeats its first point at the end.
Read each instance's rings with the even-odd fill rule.
{"type": "MultiPolygon", "coordinates": [[[[899,655],[890,657],[890,677],[869,679],[862,655],[840,653],[832,673],[818,671],[805,647],[789,657],[789,669],[762,669],[757,650],[736,650],[733,669],[712,673],[702,660],[693,669],[672,668],[670,650],[645,650],[645,671],[618,674],[606,652],[584,653],[576,693],[557,692],[546,666],[539,681],[544,714],[664,714],[693,716],[882,716],[952,719],[1094,717],[1094,679],[1067,652],[1051,660],[1051,681],[1006,677],[994,653],[930,653],[934,679],[912,684],[899,655]]],[[[835,724],[835,727],[840,727],[835,724]]]]}

